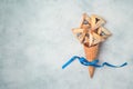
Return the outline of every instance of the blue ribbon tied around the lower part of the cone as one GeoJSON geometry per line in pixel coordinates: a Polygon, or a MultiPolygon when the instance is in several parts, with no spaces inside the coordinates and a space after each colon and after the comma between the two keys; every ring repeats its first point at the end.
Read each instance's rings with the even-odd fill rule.
{"type": "Polygon", "coordinates": [[[112,68],[120,68],[120,67],[124,67],[127,65],[127,62],[121,65],[121,66],[113,66],[113,65],[110,65],[108,62],[103,62],[102,65],[98,65],[99,60],[95,59],[93,61],[88,61],[85,58],[83,57],[78,57],[78,56],[74,56],[72,57],[66,63],[64,63],[62,66],[62,69],[64,69],[65,67],[68,67],[71,62],[73,62],[75,59],[79,59],[80,63],[81,65],[84,65],[84,66],[92,66],[92,67],[95,67],[95,68],[102,68],[104,66],[108,66],[108,67],[112,67],[112,68]]]}

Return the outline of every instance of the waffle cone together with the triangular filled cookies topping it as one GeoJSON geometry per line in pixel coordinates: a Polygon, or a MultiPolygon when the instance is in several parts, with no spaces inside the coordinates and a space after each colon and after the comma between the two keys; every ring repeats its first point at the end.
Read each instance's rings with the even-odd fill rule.
{"type": "MultiPolygon", "coordinates": [[[[103,28],[104,23],[105,21],[101,17],[96,14],[89,17],[84,13],[80,28],[72,30],[84,47],[88,61],[96,59],[100,43],[111,36],[111,32],[103,28]]],[[[89,72],[92,78],[94,75],[94,67],[89,66],[89,72]]]]}

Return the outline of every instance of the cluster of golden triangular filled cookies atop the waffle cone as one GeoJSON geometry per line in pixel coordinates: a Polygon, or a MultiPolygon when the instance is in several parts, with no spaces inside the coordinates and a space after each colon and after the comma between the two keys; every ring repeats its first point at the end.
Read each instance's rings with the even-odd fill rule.
{"type": "Polygon", "coordinates": [[[111,32],[103,28],[104,23],[105,21],[101,17],[96,14],[89,17],[84,13],[80,28],[72,29],[72,31],[81,43],[93,46],[104,41],[111,36],[111,32]]]}

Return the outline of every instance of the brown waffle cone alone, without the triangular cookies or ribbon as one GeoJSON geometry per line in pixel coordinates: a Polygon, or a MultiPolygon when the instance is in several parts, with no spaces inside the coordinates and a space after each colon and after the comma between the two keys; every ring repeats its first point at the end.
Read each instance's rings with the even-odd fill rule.
{"type": "MultiPolygon", "coordinates": [[[[98,56],[98,50],[99,50],[99,44],[89,47],[89,44],[84,44],[84,52],[88,61],[93,61],[96,59],[98,56]]],[[[90,77],[92,78],[94,75],[94,67],[89,67],[89,73],[90,77]]]]}

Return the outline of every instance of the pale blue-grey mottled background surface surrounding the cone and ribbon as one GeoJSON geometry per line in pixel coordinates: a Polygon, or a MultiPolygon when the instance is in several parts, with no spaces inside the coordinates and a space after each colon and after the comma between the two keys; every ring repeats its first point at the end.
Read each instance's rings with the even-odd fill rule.
{"type": "Polygon", "coordinates": [[[133,0],[0,0],[0,89],[133,89],[133,0]],[[84,56],[71,32],[83,12],[99,14],[113,33],[100,62],[129,66],[96,69],[74,61],[84,56]]]}

